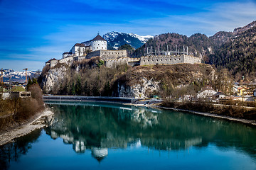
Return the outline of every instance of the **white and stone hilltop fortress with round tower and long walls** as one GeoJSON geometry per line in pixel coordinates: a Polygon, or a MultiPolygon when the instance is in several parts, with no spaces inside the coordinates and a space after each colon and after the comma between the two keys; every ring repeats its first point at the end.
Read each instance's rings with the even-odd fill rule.
{"type": "Polygon", "coordinates": [[[150,65],[150,64],[178,64],[178,63],[201,63],[199,57],[188,55],[188,48],[179,52],[176,51],[161,51],[158,49],[146,49],[146,54],[141,58],[127,57],[126,50],[107,50],[107,40],[102,38],[99,34],[90,41],[76,43],[70,52],[63,53],[63,59],[51,59],[46,62],[46,65],[55,67],[56,64],[72,65],[74,61],[82,61],[92,57],[100,57],[100,60],[105,62],[106,67],[116,67],[120,64],[129,64],[132,67],[135,65],[150,65]]]}

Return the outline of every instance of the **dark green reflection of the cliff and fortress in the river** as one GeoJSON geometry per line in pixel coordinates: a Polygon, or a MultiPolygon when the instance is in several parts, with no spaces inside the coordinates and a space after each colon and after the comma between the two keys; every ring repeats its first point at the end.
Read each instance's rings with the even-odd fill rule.
{"type": "Polygon", "coordinates": [[[137,145],[160,150],[188,149],[191,146],[235,147],[255,157],[255,128],[239,123],[184,113],[134,106],[96,103],[58,103],[53,125],[46,133],[63,139],[75,152],[90,149],[102,160],[107,148],[137,145]]]}

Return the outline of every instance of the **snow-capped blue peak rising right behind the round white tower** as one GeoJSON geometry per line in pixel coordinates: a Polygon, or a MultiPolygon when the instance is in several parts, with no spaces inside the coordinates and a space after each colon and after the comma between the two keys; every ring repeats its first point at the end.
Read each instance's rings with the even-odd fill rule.
{"type": "Polygon", "coordinates": [[[111,47],[114,47],[114,49],[118,49],[121,45],[129,44],[135,49],[138,47],[141,47],[146,43],[149,38],[153,38],[151,35],[146,36],[140,36],[133,33],[118,33],[115,31],[112,31],[110,33],[106,33],[103,35],[103,38],[107,40],[108,45],[111,47]]]}

